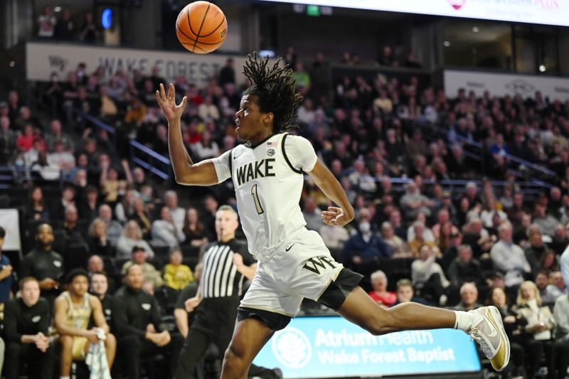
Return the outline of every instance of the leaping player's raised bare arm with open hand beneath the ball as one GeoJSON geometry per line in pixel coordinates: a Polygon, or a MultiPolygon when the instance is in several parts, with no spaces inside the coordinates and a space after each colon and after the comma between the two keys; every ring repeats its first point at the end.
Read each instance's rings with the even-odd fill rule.
{"type": "Polygon", "coordinates": [[[184,146],[181,132],[181,116],[186,109],[188,98],[184,96],[182,102],[176,105],[174,85],[170,84],[168,95],[166,95],[164,85],[160,84],[160,90],[156,90],[156,100],[168,120],[168,147],[176,183],[187,186],[211,186],[217,184],[216,167],[211,159],[194,164],[184,146]]]}

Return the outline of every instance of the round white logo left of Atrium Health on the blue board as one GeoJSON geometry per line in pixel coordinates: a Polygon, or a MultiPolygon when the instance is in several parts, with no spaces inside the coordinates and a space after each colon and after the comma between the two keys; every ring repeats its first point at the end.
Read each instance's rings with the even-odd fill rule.
{"type": "Polygon", "coordinates": [[[303,368],[312,358],[312,346],[307,336],[290,326],[275,333],[271,346],[277,361],[287,368],[303,368]]]}

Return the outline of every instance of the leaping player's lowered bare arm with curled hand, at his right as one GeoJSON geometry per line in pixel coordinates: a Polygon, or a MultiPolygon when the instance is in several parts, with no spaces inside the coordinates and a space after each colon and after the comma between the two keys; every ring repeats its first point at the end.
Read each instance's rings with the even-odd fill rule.
{"type": "Polygon", "coordinates": [[[344,226],[353,220],[353,208],[348,201],[346,192],[330,170],[326,169],[320,160],[317,160],[314,168],[308,174],[312,176],[314,183],[324,192],[324,195],[340,207],[328,207],[328,210],[324,210],[322,212],[324,223],[326,225],[344,226]]]}

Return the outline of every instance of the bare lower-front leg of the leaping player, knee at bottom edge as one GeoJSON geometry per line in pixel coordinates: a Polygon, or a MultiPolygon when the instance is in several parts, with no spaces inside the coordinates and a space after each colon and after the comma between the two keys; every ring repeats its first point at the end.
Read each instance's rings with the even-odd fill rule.
{"type": "Polygon", "coordinates": [[[246,379],[249,366],[257,353],[275,333],[265,322],[256,318],[247,318],[238,321],[229,343],[221,379],[246,379]]]}

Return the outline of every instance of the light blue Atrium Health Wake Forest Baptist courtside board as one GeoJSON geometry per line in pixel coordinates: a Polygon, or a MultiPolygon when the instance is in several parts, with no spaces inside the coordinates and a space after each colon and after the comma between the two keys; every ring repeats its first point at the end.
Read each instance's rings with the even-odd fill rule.
{"type": "Polygon", "coordinates": [[[372,336],[341,317],[297,317],[277,331],[255,364],[285,378],[465,373],[480,370],[474,342],[462,331],[402,331],[372,336]]]}

